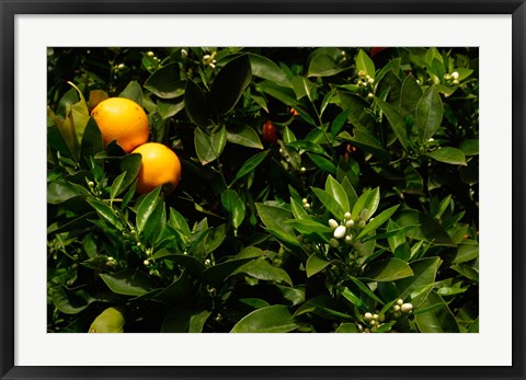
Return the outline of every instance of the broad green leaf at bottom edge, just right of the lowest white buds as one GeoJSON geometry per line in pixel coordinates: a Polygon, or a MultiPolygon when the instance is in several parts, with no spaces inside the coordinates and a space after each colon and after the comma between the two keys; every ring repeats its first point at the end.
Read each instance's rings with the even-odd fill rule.
{"type": "Polygon", "coordinates": [[[414,321],[421,333],[458,333],[458,324],[455,315],[449,310],[444,299],[432,291],[427,296],[421,308],[430,308],[432,310],[424,313],[415,313],[414,321]]]}

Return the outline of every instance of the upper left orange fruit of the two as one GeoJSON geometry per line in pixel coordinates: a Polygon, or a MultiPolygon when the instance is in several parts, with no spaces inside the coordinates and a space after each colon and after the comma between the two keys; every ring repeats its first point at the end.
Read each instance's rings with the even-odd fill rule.
{"type": "Polygon", "coordinates": [[[113,140],[126,153],[148,141],[148,117],[142,107],[126,97],[108,97],[99,103],[91,116],[102,134],[104,147],[113,140]]]}

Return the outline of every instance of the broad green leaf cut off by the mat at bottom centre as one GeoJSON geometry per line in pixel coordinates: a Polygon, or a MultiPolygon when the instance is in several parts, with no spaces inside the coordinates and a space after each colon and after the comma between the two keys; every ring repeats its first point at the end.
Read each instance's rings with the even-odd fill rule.
{"type": "Polygon", "coordinates": [[[300,327],[286,306],[273,304],[243,316],[231,333],[288,333],[300,327]]]}

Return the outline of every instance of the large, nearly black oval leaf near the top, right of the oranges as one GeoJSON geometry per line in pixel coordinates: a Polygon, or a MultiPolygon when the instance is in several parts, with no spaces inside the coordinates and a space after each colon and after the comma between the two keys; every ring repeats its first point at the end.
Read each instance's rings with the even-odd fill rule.
{"type": "Polygon", "coordinates": [[[218,114],[232,111],[252,79],[248,55],[230,60],[217,73],[210,90],[210,100],[218,114]]]}

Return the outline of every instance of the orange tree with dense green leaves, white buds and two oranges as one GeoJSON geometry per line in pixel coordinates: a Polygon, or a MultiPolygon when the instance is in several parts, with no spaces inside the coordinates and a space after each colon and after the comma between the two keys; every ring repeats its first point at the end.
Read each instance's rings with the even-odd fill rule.
{"type": "Polygon", "coordinates": [[[478,332],[476,48],[48,68],[49,332],[478,332]]]}

